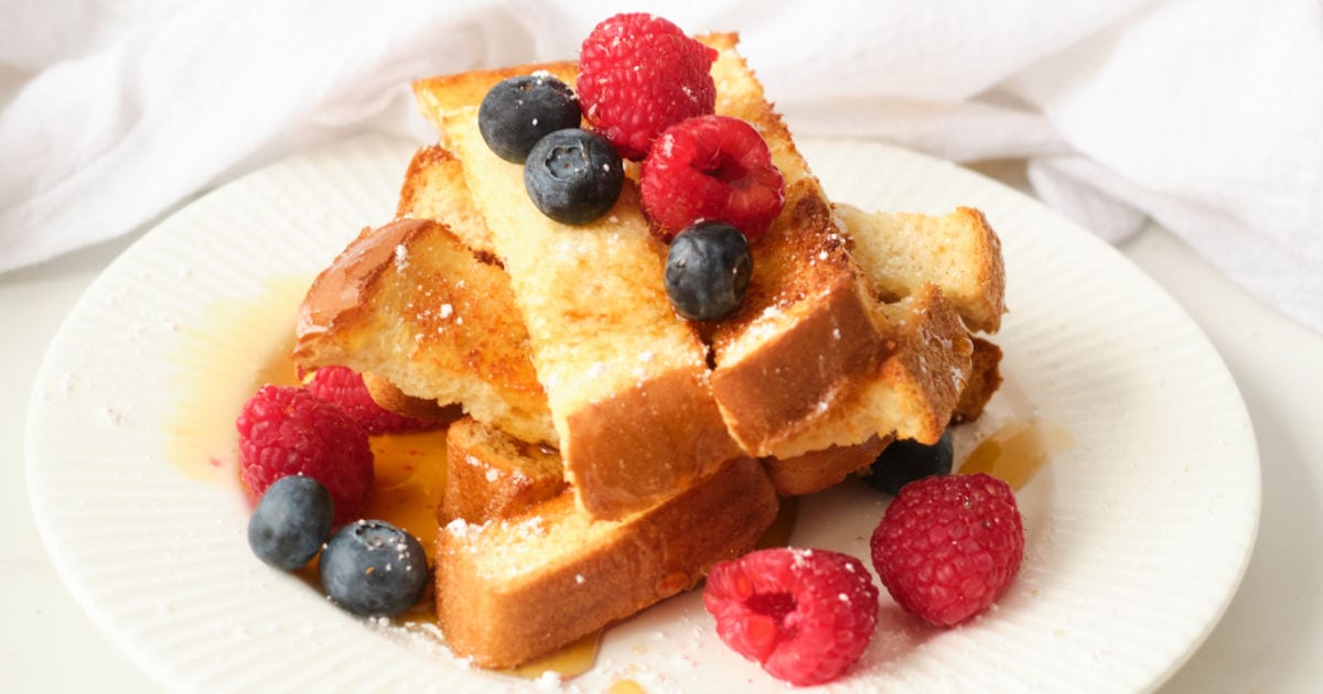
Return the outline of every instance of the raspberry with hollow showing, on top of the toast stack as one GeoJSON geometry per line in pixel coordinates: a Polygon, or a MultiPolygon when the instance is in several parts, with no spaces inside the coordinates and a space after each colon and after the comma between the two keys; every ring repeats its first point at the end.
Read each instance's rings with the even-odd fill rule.
{"type": "Polygon", "coordinates": [[[639,178],[643,212],[669,241],[700,219],[720,219],[755,241],[786,202],[767,143],[738,118],[691,118],[658,137],[639,178]]]}

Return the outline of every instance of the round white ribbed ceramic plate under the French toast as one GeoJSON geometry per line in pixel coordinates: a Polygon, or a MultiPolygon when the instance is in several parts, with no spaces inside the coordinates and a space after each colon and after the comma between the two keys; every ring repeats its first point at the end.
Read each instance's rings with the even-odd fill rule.
{"type": "MultiPolygon", "coordinates": [[[[205,196],[115,260],[46,354],[26,439],[41,533],[82,607],[171,689],[532,686],[347,616],[245,541],[234,414],[288,344],[307,282],[389,219],[411,149],[356,139],[205,196]]],[[[803,151],[833,200],[987,213],[1009,278],[1005,385],[958,445],[1019,418],[1074,439],[1020,493],[1027,557],[998,607],[938,631],[884,591],[877,637],[831,689],[1156,687],[1221,616],[1258,521],[1257,448],[1218,356],[1111,247],[1013,190],[878,143],[803,151]]],[[[884,504],[863,485],[810,500],[792,542],[867,558],[884,504]]],[[[775,685],[717,640],[693,592],[610,629],[566,686],[620,679],[775,685]]]]}

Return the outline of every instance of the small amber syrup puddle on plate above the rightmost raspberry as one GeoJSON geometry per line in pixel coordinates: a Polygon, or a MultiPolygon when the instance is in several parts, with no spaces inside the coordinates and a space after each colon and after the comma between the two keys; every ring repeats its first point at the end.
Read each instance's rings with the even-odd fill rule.
{"type": "Polygon", "coordinates": [[[1021,489],[1052,456],[1074,445],[1060,424],[1039,419],[1011,422],[979,443],[960,464],[960,475],[986,472],[1021,489]]]}

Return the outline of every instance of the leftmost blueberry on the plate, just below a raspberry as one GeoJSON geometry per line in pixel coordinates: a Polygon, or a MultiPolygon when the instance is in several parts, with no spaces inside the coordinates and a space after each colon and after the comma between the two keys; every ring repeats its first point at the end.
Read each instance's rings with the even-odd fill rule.
{"type": "Polygon", "coordinates": [[[292,571],[312,560],[327,535],[335,502],[312,477],[280,477],[266,489],[249,518],[249,546],[263,562],[292,571]]]}

